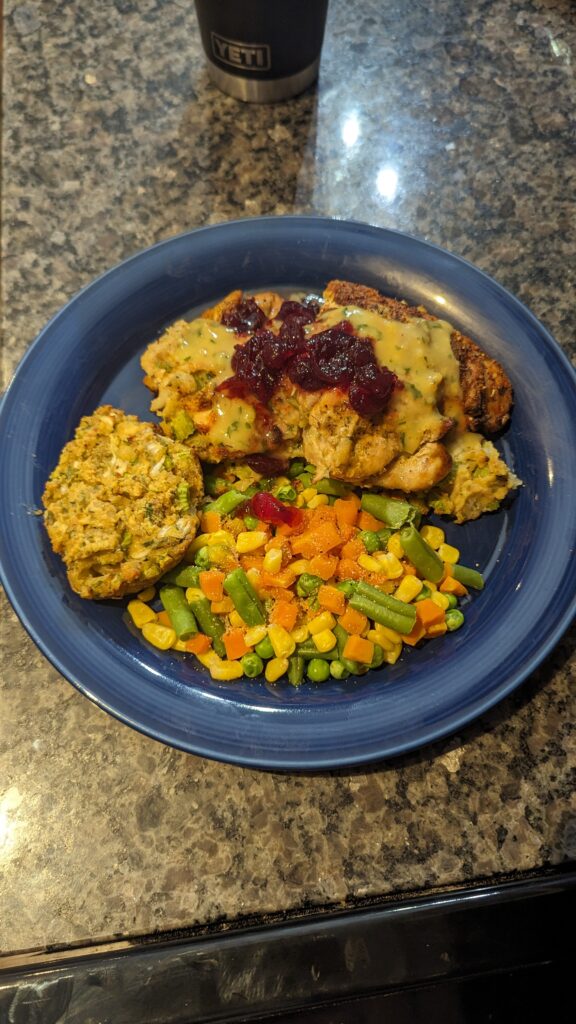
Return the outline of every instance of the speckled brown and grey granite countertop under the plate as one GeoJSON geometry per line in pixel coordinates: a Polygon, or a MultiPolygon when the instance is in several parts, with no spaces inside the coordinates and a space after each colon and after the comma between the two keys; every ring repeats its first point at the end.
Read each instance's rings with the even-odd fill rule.
{"type": "MultiPolygon", "coordinates": [[[[318,86],[242,104],[192,3],[5,0],[3,370],[96,274],[186,228],[316,213],[465,257],[576,354],[571,0],[331,0],[318,86]]],[[[41,595],[39,595],[41,600],[41,595]]],[[[576,857],[574,633],[459,734],[265,773],[108,717],[9,606],[0,952],[259,920],[576,857]]]]}

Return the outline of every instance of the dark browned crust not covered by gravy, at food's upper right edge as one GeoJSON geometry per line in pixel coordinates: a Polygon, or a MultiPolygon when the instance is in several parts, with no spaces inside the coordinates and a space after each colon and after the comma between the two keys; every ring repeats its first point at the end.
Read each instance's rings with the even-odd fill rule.
{"type": "MultiPolygon", "coordinates": [[[[329,282],[324,298],[336,305],[374,309],[389,319],[403,323],[415,317],[438,319],[423,306],[409,306],[407,302],[381,295],[375,288],[347,281],[329,282]]],[[[471,338],[453,331],[450,340],[460,365],[460,390],[466,426],[470,430],[495,433],[510,418],[513,401],[511,383],[500,364],[483,352],[471,338]]]]}

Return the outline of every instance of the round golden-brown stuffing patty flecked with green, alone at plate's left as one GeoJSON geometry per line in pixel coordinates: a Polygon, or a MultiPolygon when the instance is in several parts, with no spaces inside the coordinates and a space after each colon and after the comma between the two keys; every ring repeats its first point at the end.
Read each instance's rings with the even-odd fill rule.
{"type": "Polygon", "coordinates": [[[194,540],[194,452],[111,406],[85,416],[44,490],[44,523],[72,589],[121,598],[155,583],[194,540]]]}

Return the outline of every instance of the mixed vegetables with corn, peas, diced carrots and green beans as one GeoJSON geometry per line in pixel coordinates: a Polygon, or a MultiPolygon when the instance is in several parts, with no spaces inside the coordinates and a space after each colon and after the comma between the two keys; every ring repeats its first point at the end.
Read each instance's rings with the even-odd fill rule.
{"type": "Polygon", "coordinates": [[[346,679],[464,621],[483,578],[403,498],[247,465],[207,471],[186,560],[128,603],[145,638],[196,655],[211,677],[346,679]]]}

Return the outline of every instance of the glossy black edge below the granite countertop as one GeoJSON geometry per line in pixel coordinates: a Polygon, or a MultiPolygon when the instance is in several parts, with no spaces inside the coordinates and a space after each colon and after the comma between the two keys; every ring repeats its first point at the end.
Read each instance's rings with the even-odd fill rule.
{"type": "Polygon", "coordinates": [[[526,1022],[542,1019],[540,999],[572,1020],[552,1007],[572,983],[575,915],[567,865],[211,935],[0,958],[0,1021],[526,1022]]]}

